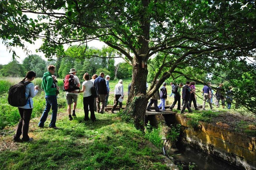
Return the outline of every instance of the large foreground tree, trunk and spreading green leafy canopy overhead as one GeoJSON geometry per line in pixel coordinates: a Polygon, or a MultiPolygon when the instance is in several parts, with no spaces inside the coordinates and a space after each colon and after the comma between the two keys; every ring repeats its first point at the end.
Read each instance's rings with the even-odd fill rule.
{"type": "Polygon", "coordinates": [[[39,50],[48,58],[63,55],[63,44],[73,42],[87,46],[100,40],[117,50],[118,57],[133,67],[125,112],[134,117],[137,127],[144,125],[147,100],[167,78],[184,76],[204,83],[181,72],[186,67],[208,73],[218,67],[225,72],[237,61],[249,69],[246,60],[255,59],[254,1],[21,0],[1,1],[0,6],[0,36],[9,48],[25,48],[22,41],[42,38],[39,50]],[[38,18],[28,18],[27,13],[38,18]],[[159,53],[162,62],[146,93],[148,70],[141,68],[141,62],[159,53]]]}

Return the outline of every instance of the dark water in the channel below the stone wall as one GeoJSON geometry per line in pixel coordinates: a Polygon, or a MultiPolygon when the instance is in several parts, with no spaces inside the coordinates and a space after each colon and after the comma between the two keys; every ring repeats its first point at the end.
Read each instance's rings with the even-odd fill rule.
{"type": "MultiPolygon", "coordinates": [[[[197,148],[189,146],[185,143],[177,144],[178,151],[168,151],[168,155],[172,156],[178,162],[184,162],[186,165],[192,164],[195,162],[197,167],[195,169],[214,169],[214,170],[233,170],[239,169],[238,167],[232,166],[227,162],[224,162],[220,159],[213,157],[212,155],[206,154],[197,148]],[[181,154],[181,155],[176,155],[181,154]]],[[[175,162],[177,164],[177,162],[175,162]]],[[[188,167],[184,167],[184,169],[188,169],[188,167]]]]}

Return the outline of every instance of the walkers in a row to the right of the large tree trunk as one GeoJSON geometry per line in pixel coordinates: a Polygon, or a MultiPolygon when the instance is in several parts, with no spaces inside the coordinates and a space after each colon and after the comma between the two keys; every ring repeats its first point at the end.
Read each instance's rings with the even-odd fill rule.
{"type": "MultiPolygon", "coordinates": [[[[158,80],[157,80],[158,82],[158,80]]],[[[166,89],[166,82],[164,82],[162,84],[162,87],[160,88],[160,93],[159,90],[156,91],[154,93],[154,95],[150,98],[150,101],[148,102],[147,105],[147,111],[151,111],[150,107],[154,104],[155,107],[155,111],[156,112],[160,112],[161,110],[166,110],[165,109],[165,101],[167,99],[167,89],[166,89]],[[160,100],[160,104],[158,105],[158,100],[160,100]],[[160,108],[162,108],[160,110],[160,108]]],[[[181,113],[184,113],[184,110],[187,108],[188,112],[192,112],[191,110],[191,104],[193,102],[194,108],[195,110],[200,110],[197,107],[197,100],[196,100],[196,82],[195,81],[186,81],[186,84],[183,85],[183,83],[179,83],[177,85],[175,85],[175,83],[170,82],[170,85],[172,87],[172,92],[169,95],[170,97],[172,95],[174,95],[174,102],[172,103],[172,105],[170,106],[170,110],[173,110],[173,108],[175,107],[176,103],[178,102],[178,106],[177,106],[177,110],[181,110],[181,113]],[[177,87],[178,86],[178,87],[177,87]],[[177,89],[177,92],[174,93],[173,90],[175,88],[177,89]],[[182,91],[181,91],[182,88],[182,91]],[[181,103],[181,99],[182,99],[182,103],[181,103]],[[181,107],[182,106],[182,107],[181,107]]],[[[211,83],[208,82],[208,85],[203,86],[202,89],[202,95],[203,95],[203,110],[205,110],[205,103],[208,102],[210,109],[213,109],[213,90],[210,87],[211,83]]],[[[215,94],[215,102],[214,104],[216,105],[217,108],[219,108],[220,106],[220,100],[221,100],[221,105],[224,109],[225,107],[225,98],[227,101],[227,108],[230,109],[231,108],[231,103],[232,103],[232,87],[229,87],[229,91],[226,93],[226,97],[223,93],[222,90],[223,84],[221,83],[218,87],[217,87],[217,92],[215,94]]],[[[129,87],[128,87],[129,88],[129,87]]]]}

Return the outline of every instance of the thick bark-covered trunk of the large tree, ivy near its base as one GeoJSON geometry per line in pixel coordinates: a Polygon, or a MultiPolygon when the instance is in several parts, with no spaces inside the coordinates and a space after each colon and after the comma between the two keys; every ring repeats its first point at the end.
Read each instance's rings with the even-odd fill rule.
{"type": "Polygon", "coordinates": [[[141,62],[147,61],[148,57],[140,57],[141,54],[147,54],[149,49],[148,40],[149,40],[149,28],[150,20],[147,15],[147,9],[149,1],[143,0],[142,6],[145,7],[141,11],[141,20],[140,28],[143,31],[143,36],[140,36],[138,39],[141,47],[136,50],[137,55],[133,59],[133,76],[131,91],[128,97],[128,103],[125,108],[126,114],[129,114],[135,122],[135,127],[143,129],[145,126],[145,113],[148,98],[146,98],[146,81],[148,70],[147,68],[141,68],[141,62]]]}

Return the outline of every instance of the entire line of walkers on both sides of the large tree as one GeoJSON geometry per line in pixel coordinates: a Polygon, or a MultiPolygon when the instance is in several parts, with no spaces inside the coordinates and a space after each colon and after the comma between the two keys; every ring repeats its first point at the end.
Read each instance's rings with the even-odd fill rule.
{"type": "MultiPolygon", "coordinates": [[[[49,111],[52,109],[52,117],[51,117],[51,122],[49,124],[50,128],[58,129],[56,127],[56,117],[57,117],[57,96],[59,94],[59,87],[57,85],[57,80],[56,77],[54,76],[55,73],[55,66],[49,65],[48,66],[48,71],[44,73],[44,76],[42,78],[42,89],[45,91],[45,100],[46,100],[46,106],[45,109],[42,113],[42,116],[40,118],[40,121],[38,123],[38,127],[43,128],[44,123],[48,117],[49,111]]],[[[68,105],[68,116],[69,120],[73,120],[73,117],[76,116],[75,114],[75,109],[77,105],[77,96],[78,93],[83,93],[83,108],[84,108],[84,120],[88,121],[89,120],[89,110],[91,113],[91,120],[93,122],[96,121],[95,117],[95,111],[98,113],[103,113],[104,111],[107,111],[107,103],[108,103],[108,96],[110,92],[110,86],[109,86],[109,81],[110,81],[110,76],[107,75],[106,78],[104,73],[100,73],[98,75],[93,75],[92,79],[90,79],[89,73],[85,73],[83,75],[83,83],[82,83],[82,88],[80,90],[80,81],[79,78],[76,76],[77,71],[72,68],[70,69],[69,74],[71,74],[74,77],[74,82],[75,86],[78,90],[74,90],[71,92],[66,92],[66,101],[68,105]],[[96,89],[97,91],[97,97],[93,97],[92,95],[92,89],[96,89]],[[71,108],[73,104],[73,111],[71,115],[71,108]],[[100,106],[101,105],[101,106],[100,106]],[[72,117],[73,116],[73,117],[72,117]]],[[[33,138],[30,138],[28,136],[28,129],[29,129],[29,122],[32,114],[32,109],[33,109],[33,100],[32,98],[38,93],[38,86],[34,86],[32,83],[33,79],[36,77],[36,73],[34,71],[29,71],[26,74],[26,77],[22,80],[25,86],[25,97],[27,98],[27,103],[25,106],[18,107],[19,113],[20,113],[20,121],[18,123],[18,126],[16,128],[16,133],[13,135],[13,140],[16,142],[23,142],[23,141],[32,141],[33,138]],[[22,134],[22,139],[20,139],[20,136],[22,134]]],[[[157,80],[158,82],[158,80],[157,80]]],[[[154,93],[154,95],[150,98],[150,101],[147,105],[147,110],[150,110],[150,107],[152,104],[155,106],[156,111],[161,111],[165,110],[165,101],[167,99],[167,89],[166,89],[166,83],[163,83],[163,86],[160,88],[160,93],[159,90],[154,93]],[[160,100],[160,104],[158,105],[158,100],[160,100]],[[162,108],[160,110],[160,108],[162,108]]],[[[172,96],[174,94],[174,102],[169,108],[170,110],[173,110],[174,106],[178,102],[178,107],[177,110],[181,110],[181,113],[184,112],[184,110],[187,108],[189,112],[192,112],[190,109],[191,104],[193,102],[195,110],[199,110],[197,108],[197,103],[196,103],[196,92],[195,92],[195,85],[196,83],[194,81],[189,82],[186,81],[186,84],[183,86],[183,83],[180,83],[179,85],[175,86],[174,83],[170,83],[172,86],[173,90],[175,88],[177,92],[173,92],[170,94],[172,96]],[[182,93],[181,92],[182,88],[182,93]],[[181,96],[182,96],[182,104],[181,104],[181,96]],[[182,108],[181,108],[182,105],[182,108]]],[[[208,83],[210,85],[210,83],[208,83]]],[[[224,108],[224,95],[222,93],[222,87],[223,84],[220,84],[219,87],[217,88],[218,91],[216,93],[216,106],[219,107],[219,102],[221,100],[222,106],[224,108]]],[[[131,90],[131,83],[128,86],[128,95],[131,90]]],[[[212,94],[212,89],[209,86],[204,86],[203,87],[203,110],[205,110],[205,102],[208,100],[210,108],[212,109],[212,103],[211,101],[211,96],[212,94]]],[[[230,109],[231,102],[232,102],[232,97],[231,97],[231,89],[228,91],[227,99],[228,101],[228,109],[230,109]]],[[[114,110],[116,109],[118,103],[119,103],[119,109],[122,108],[122,100],[124,98],[124,90],[123,90],[123,81],[119,80],[118,83],[115,86],[114,90],[115,94],[115,103],[114,106],[111,109],[111,112],[114,113],[114,110]]]]}

